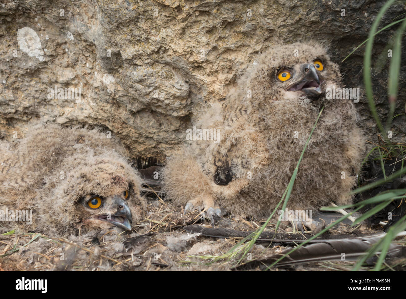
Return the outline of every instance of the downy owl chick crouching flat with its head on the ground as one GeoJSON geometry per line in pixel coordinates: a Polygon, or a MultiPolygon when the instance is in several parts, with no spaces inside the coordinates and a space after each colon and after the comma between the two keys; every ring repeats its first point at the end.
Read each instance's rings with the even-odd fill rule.
{"type": "Polygon", "coordinates": [[[0,142],[0,219],[48,235],[131,230],[146,201],[123,146],[109,137],[47,124],[17,142],[0,142]],[[18,218],[22,211],[31,211],[32,219],[18,218]]]}

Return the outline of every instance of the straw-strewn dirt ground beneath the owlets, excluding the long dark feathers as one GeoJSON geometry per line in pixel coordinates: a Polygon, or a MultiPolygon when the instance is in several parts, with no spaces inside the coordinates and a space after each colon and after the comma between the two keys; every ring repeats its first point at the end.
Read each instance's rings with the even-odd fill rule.
{"type": "MultiPolygon", "coordinates": [[[[133,224],[133,231],[121,234],[117,231],[100,231],[97,235],[63,239],[48,238],[35,232],[18,233],[16,227],[0,227],[0,271],[228,271],[237,265],[238,257],[227,258],[224,255],[242,237],[213,238],[190,233],[184,229],[188,225],[212,227],[211,220],[202,219],[198,212],[183,216],[182,211],[176,211],[170,203],[155,195],[148,196],[148,211],[142,223],[133,224]],[[14,233],[7,234],[13,229],[16,229],[14,233]]],[[[265,220],[226,215],[217,219],[214,227],[255,231],[265,220]]],[[[265,231],[274,231],[275,225],[276,221],[271,220],[265,231]]],[[[305,235],[294,232],[290,223],[282,223],[278,232],[298,239],[311,236],[311,231],[306,231],[305,235]]],[[[340,224],[330,229],[328,235],[358,236],[373,232],[366,225],[354,228],[340,224]]],[[[284,242],[257,242],[242,262],[267,258],[288,247],[289,244],[284,242]]],[[[318,262],[273,267],[271,270],[350,270],[352,264],[318,262]]]]}

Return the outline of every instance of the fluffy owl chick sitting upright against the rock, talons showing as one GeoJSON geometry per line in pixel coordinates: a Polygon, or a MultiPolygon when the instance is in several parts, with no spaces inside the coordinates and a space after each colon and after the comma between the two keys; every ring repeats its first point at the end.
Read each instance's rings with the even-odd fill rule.
{"type": "Polygon", "coordinates": [[[288,208],[350,203],[365,140],[352,100],[326,97],[328,88],[341,87],[326,50],[313,42],[271,47],[237,83],[195,124],[196,140],[163,168],[168,197],[187,211],[203,206],[210,216],[269,216],[324,106],[288,208]]]}

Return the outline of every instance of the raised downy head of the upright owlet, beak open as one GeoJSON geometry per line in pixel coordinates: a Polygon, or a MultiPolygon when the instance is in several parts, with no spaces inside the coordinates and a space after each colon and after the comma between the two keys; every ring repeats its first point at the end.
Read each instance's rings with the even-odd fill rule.
{"type": "Polygon", "coordinates": [[[327,87],[341,84],[338,65],[315,43],[272,47],[257,62],[246,78],[253,98],[271,94],[270,100],[314,99],[323,96],[327,87]]]}

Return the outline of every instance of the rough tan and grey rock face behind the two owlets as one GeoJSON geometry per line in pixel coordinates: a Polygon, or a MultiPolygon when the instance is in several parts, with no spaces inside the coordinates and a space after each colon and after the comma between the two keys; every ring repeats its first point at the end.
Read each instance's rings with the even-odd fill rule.
{"type": "MultiPolygon", "coordinates": [[[[363,91],[363,48],[384,1],[19,0],[0,4],[0,138],[26,122],[90,124],[117,134],[132,156],[171,155],[186,129],[226,97],[272,44],[317,39],[344,83],[360,88],[361,126],[376,134],[363,91]],[[345,16],[343,16],[343,9],[345,16]]],[[[393,5],[381,24],[404,12],[393,5]]],[[[382,25],[382,26],[384,26],[382,25]]],[[[380,28],[382,28],[382,26],[380,28]]],[[[396,27],[396,26],[395,26],[396,27]]],[[[386,121],[392,31],[376,37],[378,113],[386,121]],[[381,65],[381,69],[378,67],[381,65]]],[[[299,49],[300,50],[300,49],[299,49]]],[[[406,57],[403,47],[403,57],[406,57]]],[[[393,138],[404,141],[406,64],[393,138]]],[[[371,137],[376,140],[376,137],[371,137]]]]}

